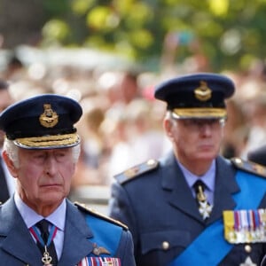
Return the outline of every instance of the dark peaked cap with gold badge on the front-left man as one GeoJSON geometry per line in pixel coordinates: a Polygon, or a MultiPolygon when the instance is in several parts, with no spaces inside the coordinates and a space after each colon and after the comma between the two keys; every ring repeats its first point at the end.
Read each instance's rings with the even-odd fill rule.
{"type": "Polygon", "coordinates": [[[78,145],[74,123],[82,107],[73,99],[42,95],[9,106],[0,116],[0,128],[15,145],[47,149],[78,145]]]}

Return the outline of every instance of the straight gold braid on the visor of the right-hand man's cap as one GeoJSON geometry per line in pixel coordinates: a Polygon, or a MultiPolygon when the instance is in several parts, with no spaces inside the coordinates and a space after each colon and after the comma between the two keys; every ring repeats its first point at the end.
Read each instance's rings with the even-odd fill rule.
{"type": "Polygon", "coordinates": [[[172,111],[177,118],[225,118],[224,108],[175,108],[172,111]]]}

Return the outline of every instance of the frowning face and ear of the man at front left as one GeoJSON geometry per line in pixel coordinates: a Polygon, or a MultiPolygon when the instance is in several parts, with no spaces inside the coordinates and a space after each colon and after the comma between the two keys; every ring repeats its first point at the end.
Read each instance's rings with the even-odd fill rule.
{"type": "Polygon", "coordinates": [[[17,178],[21,200],[38,214],[51,214],[68,195],[75,168],[73,149],[18,148],[18,161],[4,151],[4,160],[17,178]]]}

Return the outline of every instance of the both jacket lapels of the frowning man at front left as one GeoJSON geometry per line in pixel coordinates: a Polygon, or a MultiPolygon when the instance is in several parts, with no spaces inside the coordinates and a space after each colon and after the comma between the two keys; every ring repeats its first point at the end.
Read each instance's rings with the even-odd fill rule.
{"type": "MultiPolygon", "coordinates": [[[[64,246],[58,266],[76,265],[93,250],[92,232],[82,213],[70,201],[66,201],[66,231],[64,246]]],[[[0,236],[5,239],[1,248],[26,265],[40,265],[42,254],[35,245],[27,226],[15,207],[13,198],[2,207],[0,236]]]]}

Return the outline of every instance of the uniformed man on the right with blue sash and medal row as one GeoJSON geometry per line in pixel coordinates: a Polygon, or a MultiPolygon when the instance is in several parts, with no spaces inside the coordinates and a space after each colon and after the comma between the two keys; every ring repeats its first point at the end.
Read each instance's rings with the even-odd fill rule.
{"type": "Polygon", "coordinates": [[[173,149],[115,176],[109,204],[132,232],[138,266],[260,265],[266,169],[220,155],[234,90],[231,79],[210,73],[156,87],[173,149]]]}

